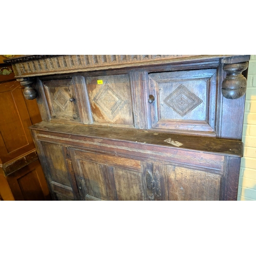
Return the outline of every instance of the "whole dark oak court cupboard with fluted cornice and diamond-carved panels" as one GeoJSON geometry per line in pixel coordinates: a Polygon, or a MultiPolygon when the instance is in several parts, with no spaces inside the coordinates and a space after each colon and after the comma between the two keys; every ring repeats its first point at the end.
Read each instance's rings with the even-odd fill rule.
{"type": "Polygon", "coordinates": [[[249,55],[12,58],[54,200],[237,200],[249,55]]]}

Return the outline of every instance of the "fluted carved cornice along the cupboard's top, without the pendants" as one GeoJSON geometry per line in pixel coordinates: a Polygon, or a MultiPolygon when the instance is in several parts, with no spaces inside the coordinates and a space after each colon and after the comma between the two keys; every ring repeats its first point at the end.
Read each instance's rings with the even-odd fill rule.
{"type": "Polygon", "coordinates": [[[12,63],[15,77],[21,78],[232,56],[237,55],[27,55],[5,60],[5,63],[12,63]]]}

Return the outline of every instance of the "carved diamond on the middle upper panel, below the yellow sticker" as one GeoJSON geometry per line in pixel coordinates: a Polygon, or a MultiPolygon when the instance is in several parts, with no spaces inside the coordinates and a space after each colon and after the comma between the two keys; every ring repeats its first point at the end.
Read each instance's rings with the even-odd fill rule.
{"type": "Polygon", "coordinates": [[[115,93],[109,84],[104,84],[93,101],[99,106],[101,111],[113,120],[121,111],[126,103],[117,93],[115,93]]]}

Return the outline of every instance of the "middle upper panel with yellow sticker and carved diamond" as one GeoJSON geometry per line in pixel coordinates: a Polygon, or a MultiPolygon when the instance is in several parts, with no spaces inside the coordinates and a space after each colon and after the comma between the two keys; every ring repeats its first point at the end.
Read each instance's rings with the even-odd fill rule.
{"type": "Polygon", "coordinates": [[[129,75],[87,77],[86,83],[94,124],[134,127],[129,75]]]}

